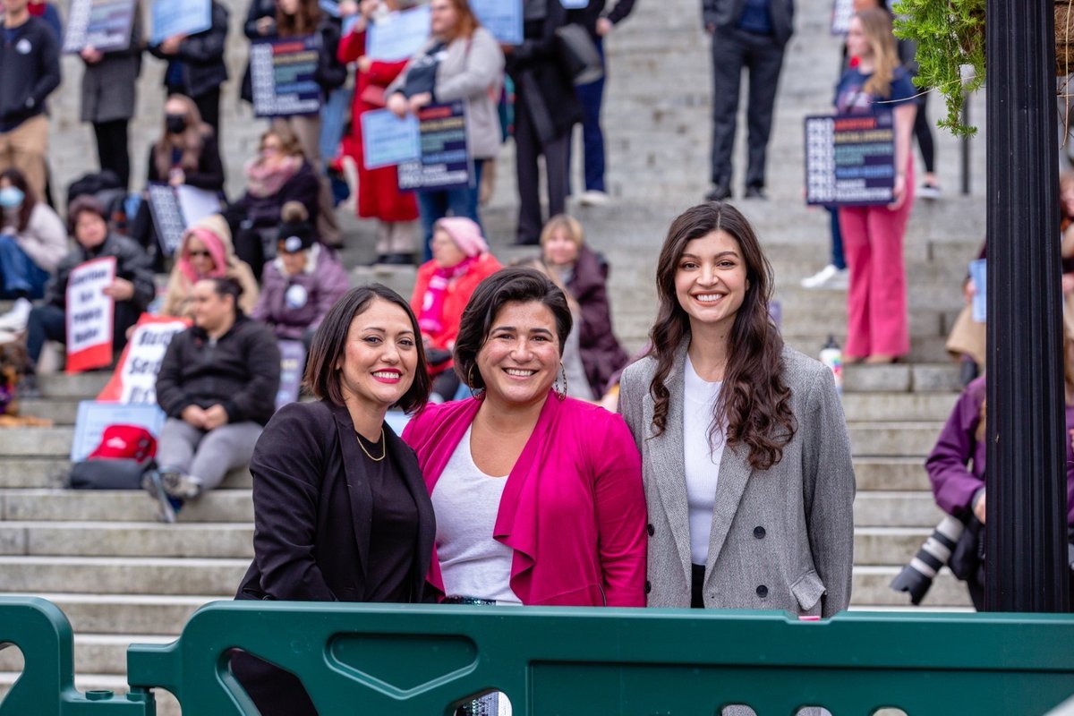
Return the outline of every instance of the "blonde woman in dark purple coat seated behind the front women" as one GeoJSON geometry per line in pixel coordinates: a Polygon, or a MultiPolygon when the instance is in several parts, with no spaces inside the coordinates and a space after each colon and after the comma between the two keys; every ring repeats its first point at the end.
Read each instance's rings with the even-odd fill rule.
{"type": "Polygon", "coordinates": [[[565,214],[548,220],[540,245],[545,264],[578,302],[578,341],[585,380],[594,395],[604,395],[611,377],[629,360],[612,331],[608,262],[585,245],[582,225],[565,214]]]}

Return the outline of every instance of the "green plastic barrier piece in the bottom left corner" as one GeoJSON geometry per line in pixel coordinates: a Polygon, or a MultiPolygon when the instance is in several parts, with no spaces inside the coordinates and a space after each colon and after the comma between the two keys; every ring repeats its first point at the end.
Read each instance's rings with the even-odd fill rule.
{"type": "Polygon", "coordinates": [[[0,648],[15,645],[26,666],[0,701],[0,716],[154,716],[153,693],[79,692],[74,687],[71,624],[35,597],[0,598],[0,648]]]}

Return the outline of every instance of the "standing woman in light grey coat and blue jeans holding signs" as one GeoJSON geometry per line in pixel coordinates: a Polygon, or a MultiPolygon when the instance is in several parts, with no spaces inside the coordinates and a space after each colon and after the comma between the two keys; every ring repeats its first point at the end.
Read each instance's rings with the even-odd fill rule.
{"type": "Polygon", "coordinates": [[[432,0],[432,36],[388,88],[388,108],[400,117],[432,103],[466,103],[466,146],[474,162],[468,187],[418,193],[425,243],[448,216],[465,217],[479,227],[478,191],[484,160],[499,152],[496,100],[503,84],[504,53],[481,27],[467,0],[432,0]]]}

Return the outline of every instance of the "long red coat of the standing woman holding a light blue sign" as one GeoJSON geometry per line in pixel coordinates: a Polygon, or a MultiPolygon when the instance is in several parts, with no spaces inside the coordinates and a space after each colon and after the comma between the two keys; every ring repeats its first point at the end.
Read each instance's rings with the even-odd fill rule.
{"type": "MultiPolygon", "coordinates": [[[[365,32],[349,32],[339,41],[337,57],[340,62],[353,62],[365,55],[365,32]]],[[[354,101],[351,105],[350,136],[344,137],[343,151],[358,164],[358,216],[381,221],[413,221],[418,218],[418,200],[412,191],[400,191],[398,175],[394,166],[365,169],[362,150],[363,113],[380,109],[383,105],[369,104],[363,97],[377,89],[383,92],[388,85],[406,67],[406,60],[381,62],[374,60],[368,72],[359,72],[354,78],[354,101]],[[371,89],[373,88],[373,89],[371,89]]]]}

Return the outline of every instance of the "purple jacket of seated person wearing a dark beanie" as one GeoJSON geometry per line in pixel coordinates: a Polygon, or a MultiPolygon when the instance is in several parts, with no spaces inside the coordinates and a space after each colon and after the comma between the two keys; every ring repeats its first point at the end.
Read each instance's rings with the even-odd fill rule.
{"type": "Polygon", "coordinates": [[[332,249],[315,244],[309,266],[286,276],[282,261],[265,264],[261,296],[251,316],[267,323],[277,338],[301,340],[306,328],[316,328],[339,296],[347,293],[347,272],[332,249]]]}

